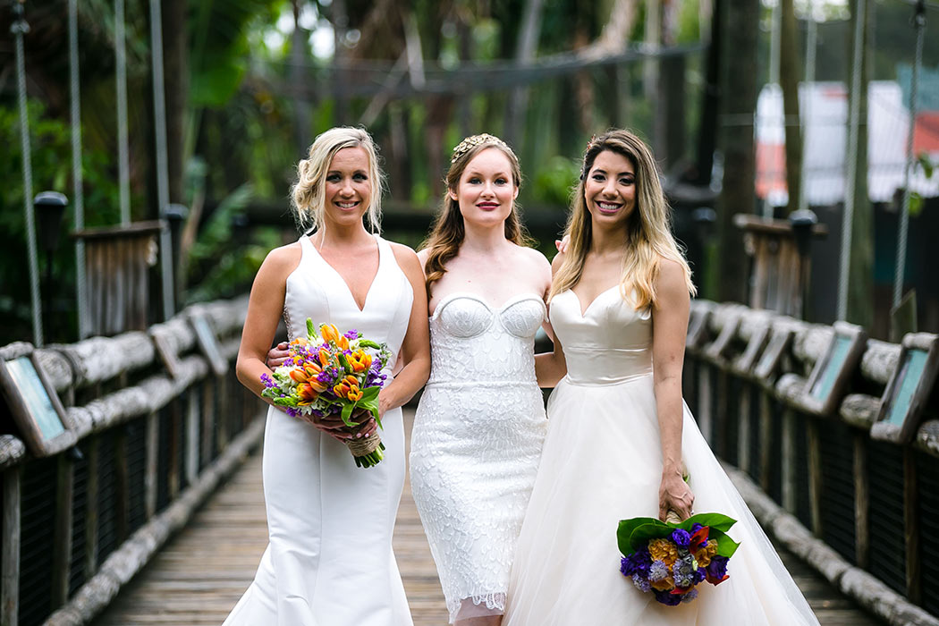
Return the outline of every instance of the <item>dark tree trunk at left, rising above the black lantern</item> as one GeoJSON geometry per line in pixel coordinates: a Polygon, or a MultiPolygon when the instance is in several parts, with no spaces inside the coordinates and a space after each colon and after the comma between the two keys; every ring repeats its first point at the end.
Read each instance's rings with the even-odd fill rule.
{"type": "Polygon", "coordinates": [[[166,98],[166,158],[170,202],[181,203],[189,104],[189,37],[187,0],[162,1],[163,93],[166,98]]]}

